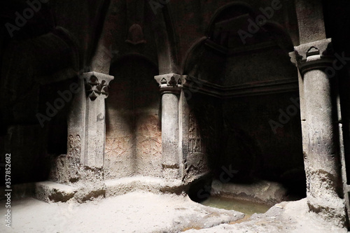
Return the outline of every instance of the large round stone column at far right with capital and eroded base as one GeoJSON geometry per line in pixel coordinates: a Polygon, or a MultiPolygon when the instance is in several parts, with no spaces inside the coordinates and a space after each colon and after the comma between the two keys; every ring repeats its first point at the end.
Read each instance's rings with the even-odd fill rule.
{"type": "Polygon", "coordinates": [[[307,204],[336,225],[345,223],[339,170],[337,89],[331,39],[295,47],[300,71],[302,148],[307,174],[307,204]]]}

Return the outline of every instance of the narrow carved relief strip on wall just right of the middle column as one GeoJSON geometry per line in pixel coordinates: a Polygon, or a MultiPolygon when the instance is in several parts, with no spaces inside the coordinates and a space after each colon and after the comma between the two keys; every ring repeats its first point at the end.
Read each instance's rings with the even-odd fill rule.
{"type": "Polygon", "coordinates": [[[188,122],[188,152],[202,153],[202,137],[200,135],[200,126],[193,111],[190,111],[188,122]]]}

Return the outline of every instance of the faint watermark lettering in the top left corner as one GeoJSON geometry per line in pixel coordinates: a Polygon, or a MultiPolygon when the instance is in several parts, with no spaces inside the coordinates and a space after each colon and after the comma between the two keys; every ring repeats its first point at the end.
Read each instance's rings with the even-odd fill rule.
{"type": "Polygon", "coordinates": [[[10,22],[6,22],[5,24],[8,34],[10,34],[10,37],[13,37],[14,31],[20,31],[22,27],[25,27],[25,24],[27,24],[27,20],[30,20],[32,17],[34,17],[35,13],[41,10],[41,3],[48,3],[48,1],[49,0],[27,0],[26,3],[29,7],[23,10],[22,15],[18,11],[15,12],[15,25],[11,24],[10,22]]]}

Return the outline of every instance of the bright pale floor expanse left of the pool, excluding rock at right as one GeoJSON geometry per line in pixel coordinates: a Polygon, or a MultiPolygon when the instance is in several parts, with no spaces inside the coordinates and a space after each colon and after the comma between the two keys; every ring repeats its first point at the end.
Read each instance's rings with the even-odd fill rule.
{"type": "MultiPolygon", "coordinates": [[[[3,201],[2,201],[3,202],[3,201]]],[[[5,214],[5,204],[0,215],[5,214]]],[[[13,201],[12,227],[0,232],[181,232],[244,218],[243,213],[203,206],[187,196],[132,192],[92,202],[13,201]]]]}

